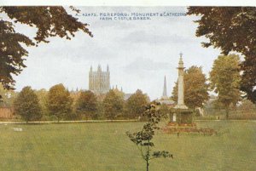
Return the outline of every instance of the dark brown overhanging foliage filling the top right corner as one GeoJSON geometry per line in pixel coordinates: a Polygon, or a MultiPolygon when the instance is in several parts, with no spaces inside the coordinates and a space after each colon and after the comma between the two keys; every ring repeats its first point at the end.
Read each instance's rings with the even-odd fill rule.
{"type": "Polygon", "coordinates": [[[188,14],[200,15],[195,35],[205,36],[203,47],[220,48],[224,55],[238,52],[241,62],[241,90],[256,103],[256,8],[255,7],[189,7],[188,14]]]}

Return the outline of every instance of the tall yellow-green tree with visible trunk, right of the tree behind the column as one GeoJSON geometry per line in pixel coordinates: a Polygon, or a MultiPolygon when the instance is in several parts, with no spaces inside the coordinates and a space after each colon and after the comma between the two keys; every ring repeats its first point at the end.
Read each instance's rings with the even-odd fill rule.
{"type": "Polygon", "coordinates": [[[230,105],[236,105],[240,100],[240,60],[236,54],[228,56],[219,55],[214,60],[210,72],[210,85],[212,90],[218,94],[218,103],[223,105],[226,111],[226,118],[229,118],[230,105]]]}

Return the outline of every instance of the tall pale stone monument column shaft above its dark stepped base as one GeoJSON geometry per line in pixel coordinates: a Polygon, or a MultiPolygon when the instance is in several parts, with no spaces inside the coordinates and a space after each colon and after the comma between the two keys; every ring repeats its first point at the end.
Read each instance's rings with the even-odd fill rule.
{"type": "Polygon", "coordinates": [[[184,104],[184,66],[182,53],[180,54],[177,70],[177,105],[174,108],[188,109],[188,107],[184,104]]]}

